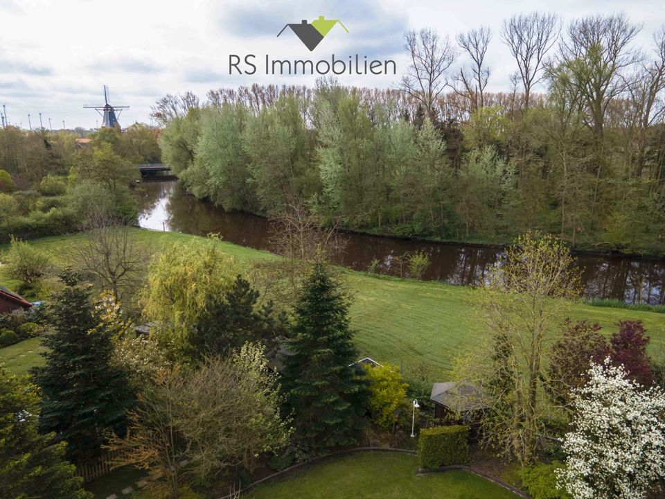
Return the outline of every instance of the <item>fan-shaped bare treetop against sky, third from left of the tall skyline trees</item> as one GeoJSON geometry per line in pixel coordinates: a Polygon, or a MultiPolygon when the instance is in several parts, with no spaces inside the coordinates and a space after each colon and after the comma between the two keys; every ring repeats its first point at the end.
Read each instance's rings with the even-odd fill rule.
{"type": "Polygon", "coordinates": [[[524,109],[529,108],[531,89],[542,78],[545,55],[556,43],[559,35],[559,19],[556,14],[514,15],[504,20],[501,38],[511,49],[524,85],[524,109]]]}

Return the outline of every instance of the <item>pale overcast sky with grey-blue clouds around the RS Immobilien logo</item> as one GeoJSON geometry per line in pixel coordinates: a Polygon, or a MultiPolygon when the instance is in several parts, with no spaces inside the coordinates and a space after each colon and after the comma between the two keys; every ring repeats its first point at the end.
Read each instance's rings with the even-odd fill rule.
{"type": "MultiPolygon", "coordinates": [[[[397,63],[398,76],[341,76],[344,85],[390,87],[405,69],[405,30],[436,28],[454,37],[468,28],[490,26],[494,37],[487,60],[488,89],[508,89],[515,71],[499,38],[502,19],[556,6],[565,21],[598,12],[626,12],[643,26],[637,44],[650,48],[651,33],[665,23],[662,0],[558,2],[491,0],[0,0],[0,104],[10,123],[53,129],[95,126],[94,110],[109,85],[111,103],[129,105],[120,121],[150,123],[150,105],[165,95],[251,85],[314,83],[314,76],[229,76],[229,53],[269,54],[274,59],[330,59],[368,55],[397,63]],[[406,6],[406,7],[405,7],[406,6]],[[292,33],[276,34],[287,23],[319,15],[344,22],[308,51],[292,33]]],[[[465,62],[460,58],[459,63],[465,62]]]]}

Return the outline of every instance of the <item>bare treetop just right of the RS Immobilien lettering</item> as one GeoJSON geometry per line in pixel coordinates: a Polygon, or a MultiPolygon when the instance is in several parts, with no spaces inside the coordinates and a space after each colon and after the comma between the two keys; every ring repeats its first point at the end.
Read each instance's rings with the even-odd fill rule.
{"type": "Polygon", "coordinates": [[[434,105],[447,85],[445,73],[457,57],[456,47],[433,29],[407,31],[405,40],[410,61],[402,89],[436,121],[434,105]]]}

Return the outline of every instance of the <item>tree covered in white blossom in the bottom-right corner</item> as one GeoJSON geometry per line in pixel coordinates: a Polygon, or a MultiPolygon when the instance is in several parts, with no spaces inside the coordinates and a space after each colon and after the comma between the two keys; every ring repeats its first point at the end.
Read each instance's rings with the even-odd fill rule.
{"type": "Polygon", "coordinates": [[[564,438],[558,482],[575,499],[644,498],[664,475],[665,393],[626,376],[608,358],[573,391],[574,430],[564,438]]]}

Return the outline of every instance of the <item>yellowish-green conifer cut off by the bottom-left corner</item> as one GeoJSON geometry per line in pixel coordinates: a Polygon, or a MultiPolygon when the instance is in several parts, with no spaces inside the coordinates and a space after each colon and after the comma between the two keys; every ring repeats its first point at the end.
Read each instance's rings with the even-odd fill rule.
{"type": "Polygon", "coordinates": [[[89,499],[64,458],[67,444],[39,433],[37,387],[0,365],[0,499],[89,499]]]}

